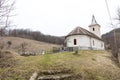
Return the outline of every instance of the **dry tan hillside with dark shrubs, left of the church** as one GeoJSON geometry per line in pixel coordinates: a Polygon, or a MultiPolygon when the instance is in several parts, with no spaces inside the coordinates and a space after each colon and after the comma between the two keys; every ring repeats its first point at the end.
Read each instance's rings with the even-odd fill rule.
{"type": "Polygon", "coordinates": [[[59,45],[19,37],[1,37],[0,40],[1,50],[7,49],[17,53],[33,52],[39,54],[43,50],[52,50],[53,47],[59,47],[59,45]]]}

